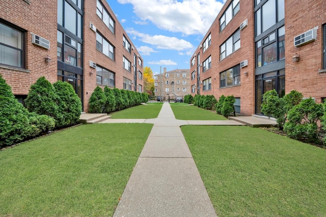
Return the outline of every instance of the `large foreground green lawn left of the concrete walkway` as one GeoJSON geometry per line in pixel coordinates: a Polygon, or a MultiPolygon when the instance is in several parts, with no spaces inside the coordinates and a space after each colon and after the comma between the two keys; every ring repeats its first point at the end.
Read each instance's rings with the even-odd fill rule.
{"type": "Polygon", "coordinates": [[[112,216],[152,125],[83,125],[0,151],[0,216],[112,216]]]}

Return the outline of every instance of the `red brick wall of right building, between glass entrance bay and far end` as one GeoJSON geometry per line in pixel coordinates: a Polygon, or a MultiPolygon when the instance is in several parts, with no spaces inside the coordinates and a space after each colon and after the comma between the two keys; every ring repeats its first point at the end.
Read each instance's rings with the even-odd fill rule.
{"type": "MultiPolygon", "coordinates": [[[[246,4],[245,1],[240,0],[240,11],[232,18],[232,20],[220,33],[219,19],[227,9],[230,2],[231,1],[229,0],[225,3],[218,17],[215,19],[208,30],[208,33],[203,38],[203,41],[200,43],[202,44],[206,40],[209,33],[211,33],[210,47],[207,48],[204,53],[202,53],[202,49],[199,47],[196,50],[196,54],[200,52],[201,63],[203,63],[203,61],[205,61],[205,59],[211,55],[211,68],[202,73],[201,67],[200,80],[203,81],[206,78],[211,77],[212,89],[202,91],[201,85],[201,95],[214,95],[216,99],[219,99],[221,95],[233,95],[236,98],[239,97],[241,100],[241,115],[251,115],[255,113],[254,6],[252,4],[246,4]],[[246,19],[248,19],[248,26],[240,30],[240,49],[220,61],[220,46],[230,36],[232,36],[237,29],[239,29],[240,24],[246,19]],[[240,64],[240,62],[245,59],[248,59],[248,66],[241,68],[240,70],[241,84],[238,86],[220,88],[220,73],[240,64]],[[248,72],[248,75],[244,75],[244,72],[248,72]]],[[[193,72],[196,67],[197,63],[191,67],[190,72],[193,72]]],[[[192,80],[191,85],[197,82],[196,79],[192,80]]]]}

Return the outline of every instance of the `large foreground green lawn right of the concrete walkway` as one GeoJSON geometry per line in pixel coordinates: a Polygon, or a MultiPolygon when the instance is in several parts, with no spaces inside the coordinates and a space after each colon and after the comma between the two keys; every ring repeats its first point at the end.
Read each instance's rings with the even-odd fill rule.
{"type": "Polygon", "coordinates": [[[257,128],[183,126],[219,216],[326,216],[326,150],[257,128]]]}

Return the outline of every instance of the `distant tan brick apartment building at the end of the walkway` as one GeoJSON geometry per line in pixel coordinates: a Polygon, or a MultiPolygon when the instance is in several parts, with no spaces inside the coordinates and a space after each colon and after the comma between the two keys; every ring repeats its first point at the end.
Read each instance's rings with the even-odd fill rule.
{"type": "Polygon", "coordinates": [[[184,97],[190,94],[190,81],[188,69],[176,69],[154,75],[154,95],[168,100],[176,97],[184,97]]]}

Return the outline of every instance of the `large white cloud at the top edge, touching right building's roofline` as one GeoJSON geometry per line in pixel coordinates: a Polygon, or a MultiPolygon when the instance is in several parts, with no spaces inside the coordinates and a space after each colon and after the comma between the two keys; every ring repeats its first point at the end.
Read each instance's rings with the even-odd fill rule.
{"type": "Polygon", "coordinates": [[[161,29],[183,35],[206,34],[224,3],[216,0],[118,0],[132,4],[134,13],[161,29]]]}

